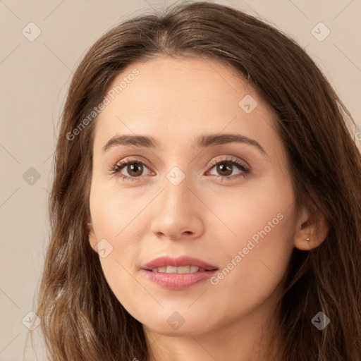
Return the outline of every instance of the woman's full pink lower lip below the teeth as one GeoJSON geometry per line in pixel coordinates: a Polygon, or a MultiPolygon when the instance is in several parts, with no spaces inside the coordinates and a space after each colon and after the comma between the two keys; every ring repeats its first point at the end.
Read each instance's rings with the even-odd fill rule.
{"type": "Polygon", "coordinates": [[[194,272],[190,274],[166,274],[161,272],[152,272],[147,269],[143,269],[145,276],[150,281],[156,283],[163,288],[169,288],[170,290],[184,290],[195,286],[197,283],[207,281],[218,270],[194,272]]]}

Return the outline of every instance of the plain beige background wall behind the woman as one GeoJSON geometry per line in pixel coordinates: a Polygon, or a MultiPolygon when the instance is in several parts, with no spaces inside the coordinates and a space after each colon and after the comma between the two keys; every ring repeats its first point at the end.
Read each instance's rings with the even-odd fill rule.
{"type": "MultiPolygon", "coordinates": [[[[35,309],[32,299],[49,236],[52,154],[73,71],[88,47],[113,25],[173,2],[0,0],[0,360],[23,360],[30,331],[22,319],[35,309]],[[30,22],[41,31],[32,42],[22,33],[25,28],[28,37],[35,35],[30,22]]],[[[360,0],[214,2],[261,16],[297,40],[361,126],[360,0]],[[322,42],[311,32],[319,22],[331,31],[322,42]]],[[[25,360],[44,360],[41,347],[39,352],[35,356],[27,350],[25,360]]]]}

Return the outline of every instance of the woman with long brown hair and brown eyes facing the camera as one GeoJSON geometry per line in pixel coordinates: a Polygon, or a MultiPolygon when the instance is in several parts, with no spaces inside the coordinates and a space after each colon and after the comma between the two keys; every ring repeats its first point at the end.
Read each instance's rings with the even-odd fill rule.
{"type": "Polygon", "coordinates": [[[107,32],[56,147],[50,359],[360,360],[352,125],[298,44],[233,8],[107,32]]]}

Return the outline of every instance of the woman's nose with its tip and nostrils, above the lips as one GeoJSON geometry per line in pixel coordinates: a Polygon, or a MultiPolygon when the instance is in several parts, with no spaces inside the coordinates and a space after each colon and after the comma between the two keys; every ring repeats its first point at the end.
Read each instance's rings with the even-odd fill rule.
{"type": "Polygon", "coordinates": [[[166,178],[163,191],[153,202],[152,233],[171,240],[200,237],[204,232],[205,209],[200,198],[190,188],[187,176],[178,185],[166,178]]]}

